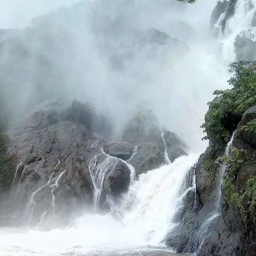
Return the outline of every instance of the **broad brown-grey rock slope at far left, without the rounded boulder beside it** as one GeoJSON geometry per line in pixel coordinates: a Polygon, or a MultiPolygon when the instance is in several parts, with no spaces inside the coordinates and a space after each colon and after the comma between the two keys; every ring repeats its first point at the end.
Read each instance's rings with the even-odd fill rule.
{"type": "Polygon", "coordinates": [[[86,150],[93,145],[100,148],[103,143],[85,126],[65,120],[70,118],[69,114],[69,109],[41,110],[10,132],[9,151],[13,152],[17,166],[23,161],[13,189],[19,190],[21,208],[28,205],[24,216],[31,224],[38,223],[44,212],[51,215],[53,211],[66,216],[68,221],[81,207],[92,204],[94,186],[86,150]],[[54,185],[57,180],[58,186],[54,185]]]}

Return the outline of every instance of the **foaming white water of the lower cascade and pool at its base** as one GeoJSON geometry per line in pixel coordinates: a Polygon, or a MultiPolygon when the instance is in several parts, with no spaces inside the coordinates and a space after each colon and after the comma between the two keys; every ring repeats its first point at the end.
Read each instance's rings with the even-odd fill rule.
{"type": "Polygon", "coordinates": [[[182,156],[170,165],[141,174],[123,198],[120,220],[110,214],[85,214],[64,229],[1,229],[0,255],[137,255],[143,250],[145,255],[150,251],[158,255],[158,250],[159,255],[170,255],[161,241],[175,225],[172,218],[182,204],[180,186],[197,159],[195,155],[182,156]]]}

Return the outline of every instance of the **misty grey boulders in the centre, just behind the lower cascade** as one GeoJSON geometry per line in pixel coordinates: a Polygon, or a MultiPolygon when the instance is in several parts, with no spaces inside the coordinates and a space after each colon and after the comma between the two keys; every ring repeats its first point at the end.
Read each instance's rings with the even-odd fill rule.
{"type": "Polygon", "coordinates": [[[152,110],[135,114],[124,128],[122,140],[126,143],[114,146],[118,152],[107,150],[111,156],[125,157],[122,159],[134,166],[137,175],[160,167],[164,163],[165,150],[170,161],[187,155],[186,143],[173,132],[162,130],[152,110]]]}

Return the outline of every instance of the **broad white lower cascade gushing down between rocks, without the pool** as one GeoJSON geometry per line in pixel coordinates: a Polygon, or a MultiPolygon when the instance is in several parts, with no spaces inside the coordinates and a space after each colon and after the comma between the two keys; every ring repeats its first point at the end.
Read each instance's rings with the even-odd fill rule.
{"type": "Polygon", "coordinates": [[[198,156],[182,156],[173,163],[141,174],[131,184],[120,211],[122,223],[140,239],[158,244],[176,223],[172,218],[184,196],[181,186],[198,156]]]}

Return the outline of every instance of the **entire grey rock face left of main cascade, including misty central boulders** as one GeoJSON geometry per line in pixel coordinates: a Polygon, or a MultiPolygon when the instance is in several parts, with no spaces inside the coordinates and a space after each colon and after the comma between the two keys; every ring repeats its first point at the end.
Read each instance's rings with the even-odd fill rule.
{"type": "Polygon", "coordinates": [[[172,159],[186,154],[186,144],[162,131],[152,110],[136,114],[114,142],[110,120],[92,106],[76,100],[68,108],[57,106],[35,112],[9,132],[7,155],[15,168],[11,195],[2,201],[5,224],[60,225],[84,210],[108,211],[131,178],[165,163],[165,153],[172,159]]]}

